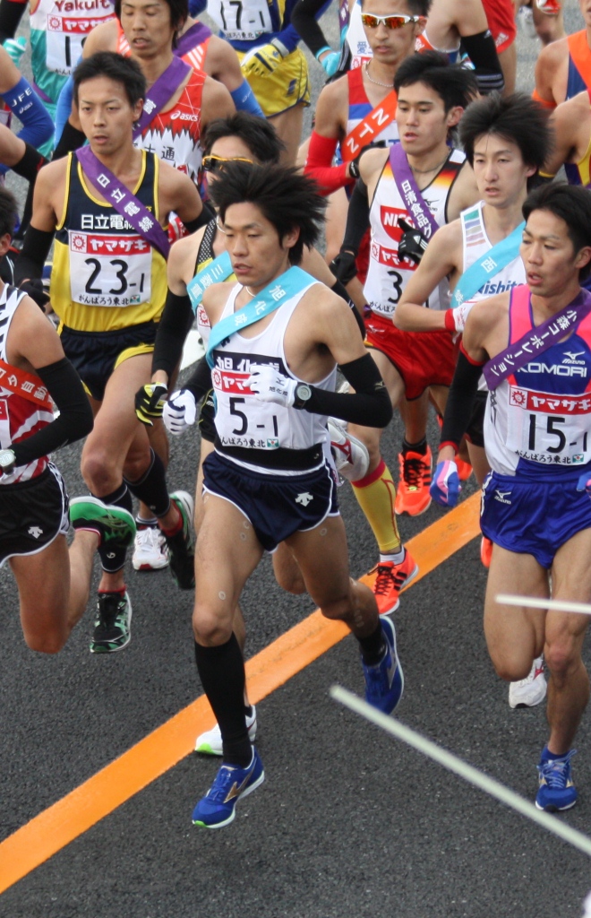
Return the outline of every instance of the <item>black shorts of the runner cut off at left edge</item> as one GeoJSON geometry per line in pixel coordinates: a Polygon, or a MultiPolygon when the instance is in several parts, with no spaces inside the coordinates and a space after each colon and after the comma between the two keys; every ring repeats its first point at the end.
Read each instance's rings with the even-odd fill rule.
{"type": "Polygon", "coordinates": [[[68,509],[66,486],[53,463],[28,481],[0,485],[0,567],[8,558],[38,554],[67,535],[68,509]]]}

